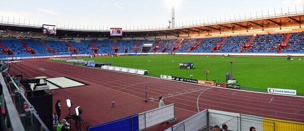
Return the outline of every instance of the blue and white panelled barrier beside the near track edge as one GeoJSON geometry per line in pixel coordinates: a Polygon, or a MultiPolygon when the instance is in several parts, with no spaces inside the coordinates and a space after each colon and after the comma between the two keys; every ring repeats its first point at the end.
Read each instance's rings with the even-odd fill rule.
{"type": "Polygon", "coordinates": [[[172,118],[175,118],[174,103],[122,119],[91,126],[89,130],[143,130],[172,118]]]}

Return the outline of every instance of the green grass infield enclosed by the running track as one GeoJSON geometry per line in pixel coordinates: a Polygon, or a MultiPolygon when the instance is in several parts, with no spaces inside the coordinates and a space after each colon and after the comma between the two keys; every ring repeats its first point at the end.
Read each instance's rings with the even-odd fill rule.
{"type": "Polygon", "coordinates": [[[208,80],[225,83],[225,74],[231,72],[242,90],[267,92],[267,88],[297,90],[304,96],[304,58],[287,61],[285,57],[221,57],[189,55],[147,55],[82,58],[95,62],[110,62],[112,66],[147,70],[149,75],[206,80],[205,70],[209,70],[208,80]],[[173,61],[172,61],[173,60],[173,61]],[[179,69],[179,63],[193,62],[194,69],[179,69]]]}

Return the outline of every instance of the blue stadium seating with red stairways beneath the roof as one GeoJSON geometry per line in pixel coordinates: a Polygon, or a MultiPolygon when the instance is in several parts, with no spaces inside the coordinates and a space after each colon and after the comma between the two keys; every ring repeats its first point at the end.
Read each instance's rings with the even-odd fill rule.
{"type": "MultiPolygon", "coordinates": [[[[35,54],[47,54],[49,48],[53,48],[58,55],[72,54],[70,48],[75,48],[78,54],[110,54],[113,48],[119,48],[118,53],[141,52],[143,44],[153,44],[152,47],[145,47],[145,50],[153,52],[180,52],[180,53],[210,53],[216,45],[222,42],[220,48],[214,50],[215,53],[304,53],[304,33],[291,34],[266,34],[252,36],[231,36],[223,40],[224,37],[199,38],[199,39],[167,39],[167,40],[104,40],[104,41],[39,41],[39,40],[0,40],[1,49],[11,49],[14,55],[30,54],[26,52],[26,47],[22,42],[35,51],[35,54]],[[290,37],[289,37],[290,36],[290,37]],[[248,42],[252,38],[250,45],[248,42]],[[285,43],[284,43],[285,41],[285,43]],[[93,42],[93,44],[92,44],[93,42]],[[181,42],[181,43],[180,43],[181,42]],[[288,42],[288,43],[287,43],[288,42]],[[69,43],[69,44],[68,44],[69,43]],[[179,44],[180,43],[180,44],[179,44]],[[199,44],[198,44],[199,43],[199,44]],[[287,43],[287,44],[286,44],[287,43]],[[45,45],[44,45],[45,44],[45,45]],[[246,49],[243,48],[246,45],[246,49]],[[284,47],[280,46],[284,44],[284,47]],[[97,50],[92,50],[92,45],[97,50]],[[285,46],[286,45],[286,46],[285,46]],[[46,47],[48,46],[48,47],[46,47]]],[[[1,51],[0,55],[7,55],[1,51]]]]}

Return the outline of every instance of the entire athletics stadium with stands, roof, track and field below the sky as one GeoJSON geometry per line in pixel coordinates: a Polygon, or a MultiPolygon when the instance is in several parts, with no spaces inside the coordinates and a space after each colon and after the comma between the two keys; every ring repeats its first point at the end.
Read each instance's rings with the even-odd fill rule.
{"type": "Polygon", "coordinates": [[[126,27],[2,17],[1,130],[304,128],[303,5],[185,23],[174,10],[126,27]]]}

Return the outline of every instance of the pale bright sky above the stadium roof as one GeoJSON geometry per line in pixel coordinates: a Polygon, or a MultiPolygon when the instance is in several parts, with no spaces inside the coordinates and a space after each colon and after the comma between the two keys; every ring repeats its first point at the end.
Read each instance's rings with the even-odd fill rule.
{"type": "Polygon", "coordinates": [[[0,23],[15,22],[57,27],[109,29],[169,26],[171,7],[175,26],[303,11],[304,0],[111,0],[111,1],[7,1],[0,0],[0,23]]]}

